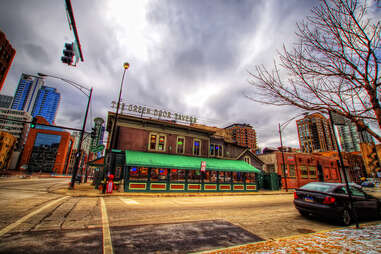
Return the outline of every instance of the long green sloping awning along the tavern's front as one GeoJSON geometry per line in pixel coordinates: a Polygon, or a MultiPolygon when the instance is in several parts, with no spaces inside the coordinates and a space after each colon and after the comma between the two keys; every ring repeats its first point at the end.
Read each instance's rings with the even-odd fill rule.
{"type": "Polygon", "coordinates": [[[127,166],[191,170],[200,169],[201,161],[206,162],[206,170],[260,173],[259,169],[241,160],[222,160],[126,150],[127,166]]]}

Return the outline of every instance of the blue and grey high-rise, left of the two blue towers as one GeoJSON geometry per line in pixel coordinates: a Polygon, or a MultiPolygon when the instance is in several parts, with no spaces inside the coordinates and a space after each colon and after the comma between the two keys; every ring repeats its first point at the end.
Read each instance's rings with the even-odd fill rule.
{"type": "Polygon", "coordinates": [[[32,114],[38,91],[44,83],[43,78],[22,73],[11,108],[32,114]]]}

